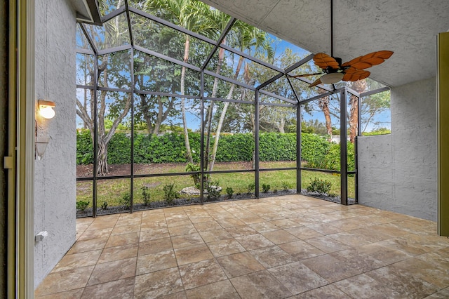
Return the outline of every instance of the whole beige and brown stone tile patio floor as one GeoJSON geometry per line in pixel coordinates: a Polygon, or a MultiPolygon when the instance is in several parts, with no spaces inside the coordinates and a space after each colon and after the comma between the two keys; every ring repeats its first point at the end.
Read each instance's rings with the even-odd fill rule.
{"type": "Polygon", "coordinates": [[[292,195],[76,221],[36,298],[449,298],[436,223],[292,195]]]}

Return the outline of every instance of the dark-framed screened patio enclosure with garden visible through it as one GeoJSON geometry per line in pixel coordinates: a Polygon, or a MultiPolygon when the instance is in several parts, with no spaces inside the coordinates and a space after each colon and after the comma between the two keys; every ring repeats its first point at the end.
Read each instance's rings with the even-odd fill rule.
{"type": "Polygon", "coordinates": [[[313,54],[185,3],[100,1],[102,25],[77,25],[80,215],[308,194],[315,178],[356,203],[363,99],[389,88],[309,88],[319,76],[293,76],[319,72],[313,54]],[[314,115],[325,131],[304,133],[314,115]]]}

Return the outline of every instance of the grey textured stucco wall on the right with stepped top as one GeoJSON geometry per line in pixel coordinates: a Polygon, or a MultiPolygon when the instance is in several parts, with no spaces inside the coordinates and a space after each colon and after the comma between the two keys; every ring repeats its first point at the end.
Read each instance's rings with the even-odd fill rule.
{"type": "Polygon", "coordinates": [[[435,78],[391,88],[391,135],[358,148],[361,204],[436,220],[435,78]]]}

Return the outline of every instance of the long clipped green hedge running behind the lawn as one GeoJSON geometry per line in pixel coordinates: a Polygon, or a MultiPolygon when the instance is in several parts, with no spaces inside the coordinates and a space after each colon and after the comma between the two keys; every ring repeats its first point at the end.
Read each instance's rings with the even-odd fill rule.
{"type": "MultiPolygon", "coordinates": [[[[331,148],[326,138],[302,133],[302,160],[314,161],[324,157],[331,148]]],[[[199,133],[189,133],[194,160],[199,162],[199,133]]],[[[213,140],[211,141],[213,142],[213,140]]],[[[76,134],[76,164],[93,163],[93,146],[88,130],[76,134]]],[[[295,161],[295,133],[261,133],[259,136],[261,161],[295,161]]],[[[217,162],[251,161],[254,138],[251,133],[221,135],[217,150],[217,162]]],[[[109,164],[128,164],[131,157],[131,141],[128,133],[115,133],[109,142],[107,161],[109,164]]],[[[161,136],[135,133],[134,161],[137,164],[187,163],[184,135],[168,133],[161,136]]]]}

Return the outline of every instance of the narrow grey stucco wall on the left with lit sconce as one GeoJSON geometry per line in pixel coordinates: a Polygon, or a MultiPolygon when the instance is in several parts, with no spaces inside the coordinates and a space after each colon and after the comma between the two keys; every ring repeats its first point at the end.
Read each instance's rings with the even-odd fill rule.
{"type": "Polygon", "coordinates": [[[51,137],[42,160],[35,160],[34,234],[48,237],[34,244],[34,286],[74,244],[76,235],[74,10],[67,0],[36,0],[36,100],[55,102],[56,115],[36,116],[39,135],[51,137]]]}

